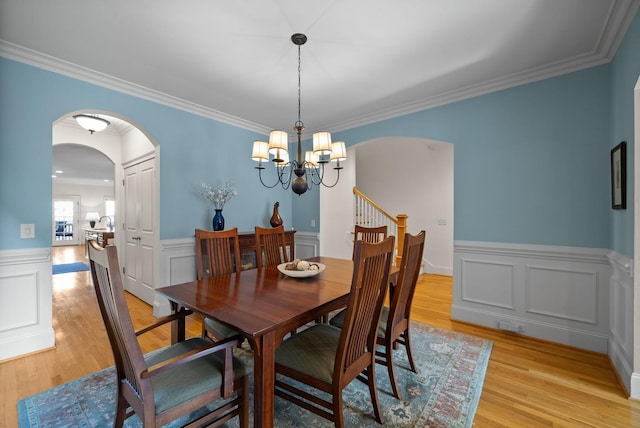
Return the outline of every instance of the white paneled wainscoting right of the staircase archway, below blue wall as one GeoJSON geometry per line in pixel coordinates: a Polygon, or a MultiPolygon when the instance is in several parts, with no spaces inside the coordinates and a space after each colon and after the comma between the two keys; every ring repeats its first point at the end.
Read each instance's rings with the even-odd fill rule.
{"type": "MultiPolygon", "coordinates": [[[[608,254],[591,248],[456,241],[451,316],[607,354],[608,254]]],[[[625,334],[628,318],[619,320],[625,334]]],[[[629,344],[626,339],[621,343],[629,344]]]]}

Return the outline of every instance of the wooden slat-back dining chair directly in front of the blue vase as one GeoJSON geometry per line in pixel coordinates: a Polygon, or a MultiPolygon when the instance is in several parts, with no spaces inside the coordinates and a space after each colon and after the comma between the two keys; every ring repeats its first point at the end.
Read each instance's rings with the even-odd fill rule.
{"type": "MultiPolygon", "coordinates": [[[[196,229],[198,279],[242,271],[238,228],[229,230],[196,229]]],[[[222,340],[239,333],[211,318],[202,320],[202,335],[222,340]]]]}

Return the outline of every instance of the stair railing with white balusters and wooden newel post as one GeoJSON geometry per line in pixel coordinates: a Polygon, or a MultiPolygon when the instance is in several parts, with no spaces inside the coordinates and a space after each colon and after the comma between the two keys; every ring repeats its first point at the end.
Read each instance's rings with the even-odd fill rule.
{"type": "Polygon", "coordinates": [[[389,214],[356,187],[353,188],[353,203],[354,224],[365,227],[387,226],[389,236],[396,237],[396,266],[400,266],[408,216],[406,214],[396,216],[389,214]]]}

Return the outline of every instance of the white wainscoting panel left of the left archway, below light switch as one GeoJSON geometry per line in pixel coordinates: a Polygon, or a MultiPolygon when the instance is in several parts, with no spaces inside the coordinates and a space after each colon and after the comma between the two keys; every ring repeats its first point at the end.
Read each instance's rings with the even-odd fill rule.
{"type": "Polygon", "coordinates": [[[55,346],[51,249],[0,251],[0,361],[55,346]]]}

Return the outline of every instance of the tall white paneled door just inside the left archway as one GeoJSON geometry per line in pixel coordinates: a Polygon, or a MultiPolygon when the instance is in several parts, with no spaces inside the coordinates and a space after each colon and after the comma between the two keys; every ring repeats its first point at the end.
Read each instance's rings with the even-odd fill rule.
{"type": "Polygon", "coordinates": [[[153,305],[155,159],[124,171],[125,289],[153,305]]]}

